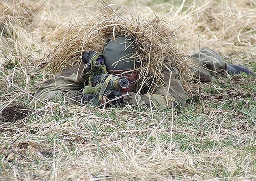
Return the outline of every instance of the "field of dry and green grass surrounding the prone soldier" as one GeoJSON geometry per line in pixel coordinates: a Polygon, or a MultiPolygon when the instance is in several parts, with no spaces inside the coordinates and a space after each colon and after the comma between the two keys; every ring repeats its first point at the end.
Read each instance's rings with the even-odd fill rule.
{"type": "MultiPolygon", "coordinates": [[[[145,17],[160,13],[177,27],[179,49],[190,53],[206,46],[256,72],[255,0],[109,4],[138,9],[145,17]]],[[[0,180],[255,179],[256,79],[248,75],[198,83],[201,101],[177,110],[32,101],[50,77],[43,58],[60,42],[72,12],[100,5],[0,2],[0,180]]]]}

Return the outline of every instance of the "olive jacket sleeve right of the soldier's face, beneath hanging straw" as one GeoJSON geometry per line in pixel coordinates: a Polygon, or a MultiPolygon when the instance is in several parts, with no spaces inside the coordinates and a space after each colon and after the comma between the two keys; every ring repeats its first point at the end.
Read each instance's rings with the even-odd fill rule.
{"type": "Polygon", "coordinates": [[[158,83],[153,94],[144,94],[141,100],[145,104],[164,109],[180,103],[182,106],[186,104],[186,93],[182,87],[182,82],[179,80],[179,72],[176,68],[164,68],[163,77],[158,83]]]}

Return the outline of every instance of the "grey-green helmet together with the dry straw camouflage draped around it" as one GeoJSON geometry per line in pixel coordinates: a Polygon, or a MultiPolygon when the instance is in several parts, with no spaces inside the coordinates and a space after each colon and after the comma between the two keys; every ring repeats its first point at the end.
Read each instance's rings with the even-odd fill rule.
{"type": "MultiPolygon", "coordinates": [[[[103,52],[108,70],[135,68],[140,82],[138,93],[144,89],[153,93],[165,79],[162,68],[174,66],[179,70],[180,80],[189,95],[192,84],[190,70],[194,63],[186,52],[176,46],[176,27],[172,22],[157,14],[143,17],[137,10],[128,11],[114,4],[98,10],[80,23],[70,22],[60,44],[47,56],[51,61],[47,65],[51,65],[52,73],[67,66],[84,66],[81,64],[82,53],[94,50],[103,52]],[[115,38],[106,43],[111,34],[115,38]],[[131,46],[133,44],[136,44],[135,49],[131,46]],[[137,63],[139,66],[136,67],[137,63]]],[[[77,74],[77,79],[79,76],[77,74]]]]}

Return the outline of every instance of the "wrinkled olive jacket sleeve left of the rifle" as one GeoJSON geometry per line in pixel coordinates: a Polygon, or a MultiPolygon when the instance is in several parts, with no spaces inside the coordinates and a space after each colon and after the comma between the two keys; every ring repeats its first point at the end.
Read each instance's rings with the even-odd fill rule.
{"type": "Polygon", "coordinates": [[[79,103],[83,95],[82,89],[85,81],[83,74],[84,66],[82,64],[67,67],[52,79],[44,81],[35,96],[47,100],[65,99],[72,103],[79,103]],[[78,75],[78,79],[76,79],[76,75],[78,75]]]}

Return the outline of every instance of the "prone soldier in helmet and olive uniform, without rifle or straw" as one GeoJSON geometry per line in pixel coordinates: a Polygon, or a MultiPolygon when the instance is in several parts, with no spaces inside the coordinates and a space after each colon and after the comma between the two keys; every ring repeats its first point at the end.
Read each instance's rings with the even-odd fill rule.
{"type": "MultiPolygon", "coordinates": [[[[158,109],[167,108],[172,105],[172,102],[185,106],[187,97],[179,79],[179,71],[175,67],[162,68],[163,82],[156,87],[153,94],[136,95],[138,91],[136,84],[139,83],[137,79],[139,65],[132,58],[135,52],[134,40],[121,35],[117,36],[115,40],[112,36],[109,36],[106,45],[103,47],[102,54],[105,57],[107,72],[113,75],[125,76],[129,81],[129,86],[120,89],[118,91],[120,94],[116,94],[116,97],[128,94],[122,98],[122,102],[147,105],[151,103],[152,106],[158,109]]],[[[200,49],[192,53],[190,57],[199,63],[200,67],[193,71],[196,72],[202,82],[211,82],[216,72],[221,73],[223,71],[229,74],[245,72],[255,75],[243,66],[225,63],[218,53],[208,48],[200,49]]],[[[67,67],[62,73],[59,72],[52,79],[43,82],[36,92],[36,97],[47,100],[68,98],[69,102],[79,104],[90,101],[92,97],[88,98],[87,95],[82,93],[84,85],[88,83],[88,74],[86,74],[88,71],[90,71],[89,68],[85,68],[83,62],[75,67],[67,67]],[[78,79],[76,80],[77,75],[78,79]]]]}

